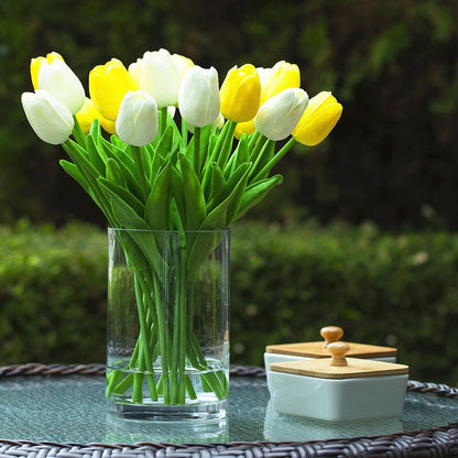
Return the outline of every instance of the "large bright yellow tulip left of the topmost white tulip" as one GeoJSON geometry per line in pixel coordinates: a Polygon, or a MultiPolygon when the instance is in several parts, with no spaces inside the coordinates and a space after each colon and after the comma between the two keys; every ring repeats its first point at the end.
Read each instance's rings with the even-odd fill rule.
{"type": "Polygon", "coordinates": [[[89,73],[90,98],[97,111],[109,121],[116,121],[124,95],[137,89],[132,76],[117,58],[97,65],[89,73]]]}

